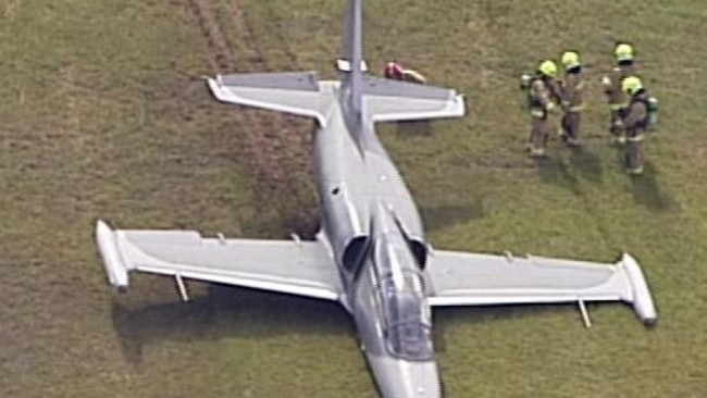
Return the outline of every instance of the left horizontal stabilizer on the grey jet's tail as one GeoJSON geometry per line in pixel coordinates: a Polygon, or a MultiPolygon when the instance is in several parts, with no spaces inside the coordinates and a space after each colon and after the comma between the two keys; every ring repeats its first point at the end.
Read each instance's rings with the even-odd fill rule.
{"type": "Polygon", "coordinates": [[[323,123],[315,72],[231,74],[207,82],[220,101],[314,117],[323,123]]]}

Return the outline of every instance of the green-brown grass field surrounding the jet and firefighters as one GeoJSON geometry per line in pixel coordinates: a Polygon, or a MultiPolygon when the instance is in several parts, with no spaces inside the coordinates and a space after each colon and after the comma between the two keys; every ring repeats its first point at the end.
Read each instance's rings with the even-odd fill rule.
{"type": "MultiPolygon", "coordinates": [[[[707,5],[703,0],[367,1],[367,58],[468,97],[431,132],[381,126],[434,247],[644,265],[661,316],[625,306],[435,313],[450,397],[707,397],[707,5]],[[631,179],[598,79],[632,40],[659,132],[631,179]],[[565,48],[590,82],[572,153],[526,159],[517,77],[565,48]]],[[[311,234],[308,121],[216,103],[202,75],[334,77],[343,1],[0,1],[0,397],[373,396],[336,304],[139,275],[106,286],[98,217],[134,228],[311,234]]]]}

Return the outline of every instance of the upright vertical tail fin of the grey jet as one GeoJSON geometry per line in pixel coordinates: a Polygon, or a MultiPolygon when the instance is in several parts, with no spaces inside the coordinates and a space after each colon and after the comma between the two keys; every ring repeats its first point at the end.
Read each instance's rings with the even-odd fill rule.
{"type": "Polygon", "coordinates": [[[363,108],[363,5],[362,0],[348,0],[344,21],[344,62],[339,63],[342,87],[351,112],[360,115],[363,108]],[[345,66],[345,67],[342,67],[345,66]]]}

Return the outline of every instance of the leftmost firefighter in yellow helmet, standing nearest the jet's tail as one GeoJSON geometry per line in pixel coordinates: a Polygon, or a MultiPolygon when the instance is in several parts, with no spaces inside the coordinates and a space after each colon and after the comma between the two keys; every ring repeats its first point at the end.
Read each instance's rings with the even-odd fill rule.
{"type": "Polygon", "coordinates": [[[531,114],[529,154],[544,157],[550,135],[549,113],[557,111],[557,64],[546,60],[539,63],[535,75],[528,82],[528,105],[531,114]]]}

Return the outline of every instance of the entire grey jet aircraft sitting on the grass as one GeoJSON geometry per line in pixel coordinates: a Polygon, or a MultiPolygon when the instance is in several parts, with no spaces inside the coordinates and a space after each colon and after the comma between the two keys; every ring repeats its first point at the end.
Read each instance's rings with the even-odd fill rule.
{"type": "Polygon", "coordinates": [[[111,229],[96,239],[110,284],[128,272],[338,301],[354,318],[361,349],[385,398],[442,396],[431,308],[624,301],[657,319],[641,268],[432,250],[418,209],[374,133],[376,122],[464,113],[454,90],[365,74],[361,0],[348,0],[339,80],[313,72],[234,74],[208,79],[221,101],[315,120],[317,188],[323,228],[315,241],[201,237],[191,231],[111,229]]]}

